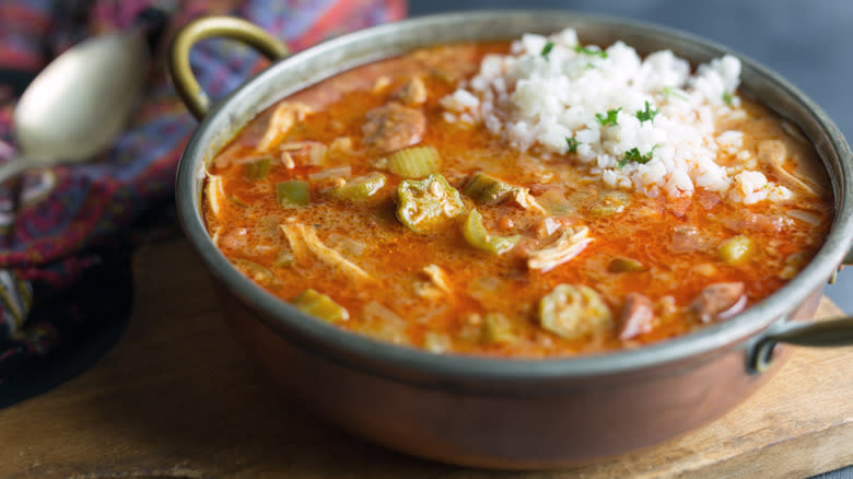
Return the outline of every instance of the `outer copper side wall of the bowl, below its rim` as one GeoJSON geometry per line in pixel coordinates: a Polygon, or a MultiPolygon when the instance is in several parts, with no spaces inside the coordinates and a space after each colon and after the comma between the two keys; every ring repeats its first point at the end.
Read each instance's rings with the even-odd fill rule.
{"type": "MultiPolygon", "coordinates": [[[[645,381],[566,378],[513,394],[471,393],[455,383],[424,386],[301,348],[234,296],[221,297],[235,337],[280,393],[355,435],[456,465],[542,469],[652,446],[722,417],[773,375],[746,373],[744,351],[735,348],[645,381]]],[[[819,297],[816,291],[795,317],[811,317],[819,297]]],[[[787,357],[778,351],[773,371],[787,357]]]]}

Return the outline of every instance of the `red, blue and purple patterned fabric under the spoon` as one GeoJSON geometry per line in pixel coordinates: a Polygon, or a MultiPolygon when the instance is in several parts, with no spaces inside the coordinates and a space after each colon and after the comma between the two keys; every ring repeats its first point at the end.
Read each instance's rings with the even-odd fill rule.
{"type": "MultiPolygon", "coordinates": [[[[3,0],[0,69],[35,73],[83,38],[131,25],[153,0],[3,0]]],[[[176,3],[160,1],[175,7],[176,3]]],[[[186,0],[179,26],[202,14],[235,14],[299,50],[326,37],[405,16],[405,0],[186,0]]],[[[174,28],[171,30],[174,32],[174,28]]],[[[160,43],[160,54],[167,45],[160,43]]],[[[162,55],[160,55],[162,58],[162,55]]],[[[247,47],[205,40],[190,54],[198,80],[218,98],[266,61],[247,47]]],[[[14,98],[0,78],[0,162],[15,154],[14,98]]],[[[61,343],[97,328],[98,316],[129,311],[128,285],[105,276],[127,265],[129,227],[172,200],[180,152],[196,121],[176,100],[166,74],[152,68],[144,101],[115,147],[96,161],[32,172],[0,185],[0,387],[61,343]],[[100,278],[91,291],[81,282],[100,278]],[[69,291],[75,291],[68,297],[69,291]],[[121,302],[122,304],[112,304],[121,302]],[[97,303],[97,304],[92,304],[97,303]]],[[[116,274],[125,277],[126,271],[116,274]]]]}

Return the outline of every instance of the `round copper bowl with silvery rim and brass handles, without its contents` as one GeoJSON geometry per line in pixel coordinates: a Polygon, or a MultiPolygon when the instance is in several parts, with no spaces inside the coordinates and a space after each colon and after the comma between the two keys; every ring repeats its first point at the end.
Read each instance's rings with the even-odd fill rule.
{"type": "MultiPolygon", "coordinates": [[[[322,417],[417,456],[495,468],[580,464],[659,443],[712,421],[779,369],[776,341],[853,342],[853,319],[814,314],[822,287],[853,241],[852,155],[827,115],[791,83],[720,45],[659,26],[554,11],[465,12],[378,26],[292,57],[236,19],[202,19],[176,37],[173,79],[201,119],[177,174],[177,209],[195,250],[221,285],[227,320],[281,389],[322,417]],[[199,213],[206,162],[276,101],[337,72],[413,48],[510,39],[566,26],[586,43],[622,39],[641,54],[663,48],[693,63],[724,54],[743,62],[744,87],[798,126],[831,179],[836,218],[826,243],[793,280],[722,324],[636,350],[554,360],[436,355],[377,342],[315,320],[239,273],[210,240],[199,213]],[[209,106],[189,71],[192,44],[246,42],[273,63],[209,106]]],[[[848,256],[846,261],[853,260],[848,256]]]]}

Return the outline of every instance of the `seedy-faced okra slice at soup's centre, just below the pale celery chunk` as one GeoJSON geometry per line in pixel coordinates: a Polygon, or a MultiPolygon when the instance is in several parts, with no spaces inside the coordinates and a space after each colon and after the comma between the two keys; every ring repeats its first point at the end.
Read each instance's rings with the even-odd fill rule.
{"type": "Polygon", "coordinates": [[[440,223],[465,211],[465,203],[439,173],[421,179],[405,179],[397,187],[397,219],[418,234],[428,234],[440,223]]]}

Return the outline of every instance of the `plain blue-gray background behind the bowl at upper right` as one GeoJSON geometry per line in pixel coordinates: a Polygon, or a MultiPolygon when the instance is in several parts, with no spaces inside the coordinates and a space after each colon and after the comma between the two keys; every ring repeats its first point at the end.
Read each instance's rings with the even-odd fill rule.
{"type": "MultiPolygon", "coordinates": [[[[471,9],[561,9],[633,17],[726,45],[780,72],[853,139],[852,0],[409,0],[410,14],[471,9]]],[[[853,268],[827,294],[853,313],[853,268]]],[[[853,445],[851,445],[853,447],[853,445]]],[[[851,476],[853,479],[853,475],[851,476]]]]}

